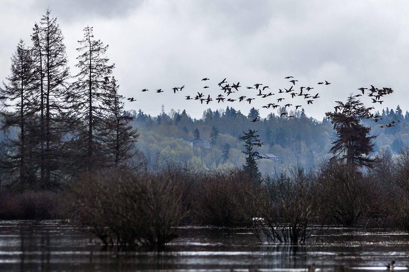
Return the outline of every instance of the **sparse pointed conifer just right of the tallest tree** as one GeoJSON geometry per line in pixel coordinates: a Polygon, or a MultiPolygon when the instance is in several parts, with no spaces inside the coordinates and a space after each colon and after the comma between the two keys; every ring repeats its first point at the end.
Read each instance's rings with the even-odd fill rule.
{"type": "Polygon", "coordinates": [[[83,157],[88,170],[102,164],[98,158],[102,151],[103,119],[108,114],[110,101],[109,78],[114,64],[109,65],[105,56],[108,45],[95,40],[92,27],[84,29],[84,39],[79,41],[81,53],[76,67],[80,69],[77,81],[70,88],[70,101],[73,102],[79,121],[78,144],[83,148],[83,157]]]}

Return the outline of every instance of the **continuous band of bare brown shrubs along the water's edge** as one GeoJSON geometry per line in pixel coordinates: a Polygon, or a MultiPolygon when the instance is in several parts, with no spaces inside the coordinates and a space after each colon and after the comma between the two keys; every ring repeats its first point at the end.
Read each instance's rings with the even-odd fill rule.
{"type": "Polygon", "coordinates": [[[409,231],[408,154],[379,158],[367,171],[322,162],[314,172],[294,168],[260,183],[240,169],[84,172],[58,192],[3,188],[0,216],[74,219],[123,247],[161,246],[177,237],[176,227],[192,225],[252,228],[261,241],[293,244],[324,225],[409,231]]]}

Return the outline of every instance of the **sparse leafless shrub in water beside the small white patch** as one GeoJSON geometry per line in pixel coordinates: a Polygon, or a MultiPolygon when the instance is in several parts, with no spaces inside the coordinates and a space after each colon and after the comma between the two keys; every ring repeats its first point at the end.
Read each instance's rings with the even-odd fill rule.
{"type": "Polygon", "coordinates": [[[258,239],[273,243],[305,243],[317,221],[314,179],[296,168],[266,180],[265,194],[259,201],[261,218],[256,223],[258,239]]]}

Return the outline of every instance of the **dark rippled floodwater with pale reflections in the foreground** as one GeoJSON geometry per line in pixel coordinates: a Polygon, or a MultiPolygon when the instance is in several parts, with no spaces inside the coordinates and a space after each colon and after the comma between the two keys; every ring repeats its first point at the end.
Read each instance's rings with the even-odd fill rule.
{"type": "Polygon", "coordinates": [[[99,239],[59,221],[0,221],[0,271],[377,271],[409,265],[404,232],[328,228],[299,246],[260,243],[248,229],[181,228],[161,252],[103,250],[99,239]]]}

